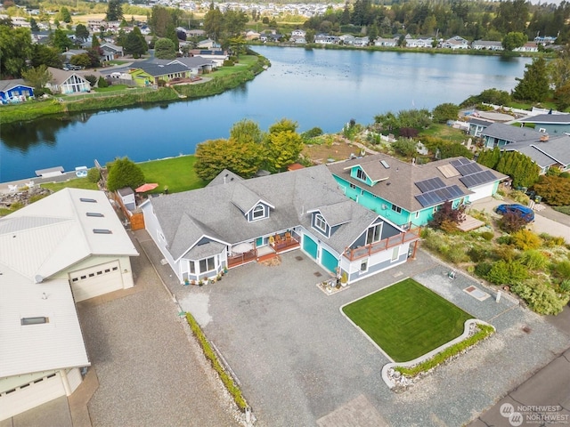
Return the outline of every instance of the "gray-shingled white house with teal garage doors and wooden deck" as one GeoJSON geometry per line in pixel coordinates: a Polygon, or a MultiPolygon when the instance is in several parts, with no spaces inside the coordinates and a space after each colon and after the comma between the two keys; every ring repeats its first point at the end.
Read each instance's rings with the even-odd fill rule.
{"type": "Polygon", "coordinates": [[[145,227],[181,282],[301,250],[348,283],[406,262],[419,230],[403,230],[345,197],[325,165],[153,197],[145,227]]]}

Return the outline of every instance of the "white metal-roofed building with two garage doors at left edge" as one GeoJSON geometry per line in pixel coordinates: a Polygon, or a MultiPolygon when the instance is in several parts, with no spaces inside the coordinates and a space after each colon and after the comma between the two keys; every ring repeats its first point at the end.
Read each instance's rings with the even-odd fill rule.
{"type": "Polygon", "coordinates": [[[75,302],[132,287],[137,252],[101,191],[0,219],[0,421],[69,396],[90,365],[75,302]]]}

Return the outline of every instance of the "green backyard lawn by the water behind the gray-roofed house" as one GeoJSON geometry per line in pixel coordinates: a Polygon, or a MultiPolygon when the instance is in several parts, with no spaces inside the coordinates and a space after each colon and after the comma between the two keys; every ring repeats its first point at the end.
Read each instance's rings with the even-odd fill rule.
{"type": "Polygon", "coordinates": [[[168,187],[170,193],[178,193],[189,189],[200,189],[208,182],[202,181],[194,172],[194,156],[180,156],[139,163],[144,179],[147,182],[157,182],[159,187],[149,193],[160,193],[168,187]]]}

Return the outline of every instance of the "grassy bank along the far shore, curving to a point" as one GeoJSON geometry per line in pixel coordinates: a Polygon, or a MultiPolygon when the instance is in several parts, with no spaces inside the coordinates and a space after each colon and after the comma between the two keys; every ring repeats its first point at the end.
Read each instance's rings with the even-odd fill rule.
{"type": "Polygon", "coordinates": [[[262,56],[248,54],[232,67],[222,67],[208,74],[208,81],[193,85],[175,85],[159,89],[125,89],[118,92],[94,94],[90,97],[59,96],[46,101],[28,101],[2,107],[2,124],[35,120],[40,117],[64,115],[69,112],[97,111],[137,106],[156,102],[172,102],[182,99],[202,98],[223,93],[252,80],[269,66],[262,56]]]}

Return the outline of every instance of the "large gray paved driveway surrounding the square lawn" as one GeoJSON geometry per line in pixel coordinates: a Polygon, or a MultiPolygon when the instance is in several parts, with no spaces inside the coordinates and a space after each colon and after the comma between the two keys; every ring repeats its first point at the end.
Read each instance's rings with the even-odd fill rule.
{"type": "Polygon", "coordinates": [[[419,251],[413,262],[327,295],[316,286],[326,272],[297,250],[281,265],[248,264],[213,285],[167,283],[232,367],[257,425],[458,426],[564,350],[567,336],[517,305],[495,308],[486,319],[498,334],[395,394],[380,375],[386,357],[339,309],[405,277],[442,294],[445,286],[481,286],[462,275],[450,281],[448,270],[419,251]]]}

